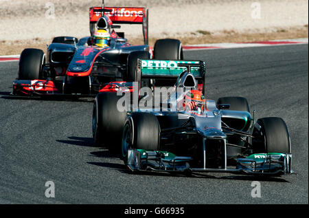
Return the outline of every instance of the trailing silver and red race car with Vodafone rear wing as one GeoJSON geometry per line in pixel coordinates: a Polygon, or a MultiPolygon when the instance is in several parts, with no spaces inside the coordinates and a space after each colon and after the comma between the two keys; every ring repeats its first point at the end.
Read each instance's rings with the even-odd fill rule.
{"type": "Polygon", "coordinates": [[[108,47],[92,45],[91,36],[80,40],[58,36],[47,52],[28,48],[19,60],[18,78],[12,94],[16,95],[87,95],[95,96],[111,81],[135,81],[137,58],[183,58],[181,42],[161,39],[152,49],[148,45],[148,9],[93,7],[89,9],[91,34],[106,30],[111,35],[108,47]],[[144,45],[131,45],[115,24],[141,24],[144,45]]]}

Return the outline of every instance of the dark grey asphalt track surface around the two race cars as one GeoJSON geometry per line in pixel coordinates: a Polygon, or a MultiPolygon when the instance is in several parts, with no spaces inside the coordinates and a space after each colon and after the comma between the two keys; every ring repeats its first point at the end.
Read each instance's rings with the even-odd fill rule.
{"type": "Polygon", "coordinates": [[[92,102],[11,98],[18,62],[0,63],[0,204],[308,204],[308,45],[185,52],[207,63],[207,98],[244,96],[282,117],[297,175],[133,175],[95,147],[92,102]],[[55,197],[45,197],[45,182],[55,197]],[[251,182],[261,197],[251,197],[251,182]]]}

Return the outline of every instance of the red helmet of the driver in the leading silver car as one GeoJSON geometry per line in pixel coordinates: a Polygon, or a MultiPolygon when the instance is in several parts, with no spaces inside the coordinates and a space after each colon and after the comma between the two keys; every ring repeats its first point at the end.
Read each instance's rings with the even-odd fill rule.
{"type": "Polygon", "coordinates": [[[187,91],[183,101],[183,107],[185,107],[185,111],[203,113],[205,109],[205,98],[202,91],[197,89],[187,91]]]}

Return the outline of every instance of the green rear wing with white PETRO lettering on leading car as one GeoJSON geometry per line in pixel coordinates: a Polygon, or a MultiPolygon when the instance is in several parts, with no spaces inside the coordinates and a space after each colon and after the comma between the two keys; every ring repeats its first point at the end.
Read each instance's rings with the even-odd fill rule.
{"type": "Polygon", "coordinates": [[[138,70],[143,78],[176,79],[184,71],[189,72],[196,80],[205,78],[206,65],[204,61],[174,61],[174,60],[141,60],[138,59],[138,70]]]}

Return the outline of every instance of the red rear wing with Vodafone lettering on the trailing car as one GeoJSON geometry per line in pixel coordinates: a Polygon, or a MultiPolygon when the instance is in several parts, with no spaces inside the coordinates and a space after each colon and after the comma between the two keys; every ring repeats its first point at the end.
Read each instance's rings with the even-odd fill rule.
{"type": "Polygon", "coordinates": [[[92,7],[89,8],[89,21],[96,23],[102,12],[115,24],[141,24],[143,25],[144,43],[148,45],[148,8],[136,7],[92,7]]]}

